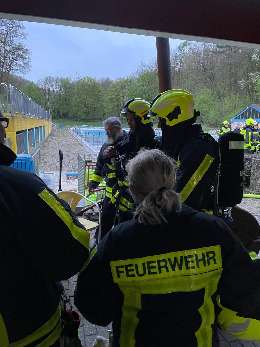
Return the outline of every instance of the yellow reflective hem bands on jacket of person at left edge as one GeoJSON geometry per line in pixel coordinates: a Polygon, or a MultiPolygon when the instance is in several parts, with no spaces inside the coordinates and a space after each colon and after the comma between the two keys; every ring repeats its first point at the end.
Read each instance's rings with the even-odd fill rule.
{"type": "MultiPolygon", "coordinates": [[[[41,337],[43,337],[44,335],[49,333],[52,329],[54,329],[55,325],[58,323],[58,321],[60,319],[60,316],[61,316],[61,309],[60,309],[60,304],[59,304],[54,315],[51,317],[51,319],[49,319],[49,321],[47,321],[44,325],[42,325],[41,328],[34,331],[31,335],[28,335],[19,341],[13,342],[12,344],[9,345],[9,347],[24,347],[24,346],[27,346],[27,345],[31,344],[32,342],[40,339],[41,337]]],[[[58,324],[57,328],[58,327],[60,327],[60,330],[59,330],[59,335],[60,335],[61,325],[58,324]]],[[[57,328],[54,331],[56,331],[57,328]]],[[[54,333],[54,331],[53,331],[53,333],[54,333]]],[[[57,332],[57,334],[58,334],[58,332],[57,332]]],[[[58,337],[59,337],[59,335],[58,335],[58,337]]],[[[44,344],[44,342],[45,342],[45,340],[43,342],[41,342],[42,346],[47,347],[47,346],[51,346],[55,341],[53,341],[50,345],[44,344]]]]}

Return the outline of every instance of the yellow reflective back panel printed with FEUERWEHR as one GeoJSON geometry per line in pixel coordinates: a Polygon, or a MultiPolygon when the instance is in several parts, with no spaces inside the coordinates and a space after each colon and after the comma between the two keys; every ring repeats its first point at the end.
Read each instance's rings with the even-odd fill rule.
{"type": "Polygon", "coordinates": [[[198,275],[222,268],[219,245],[110,263],[114,283],[198,275]]]}

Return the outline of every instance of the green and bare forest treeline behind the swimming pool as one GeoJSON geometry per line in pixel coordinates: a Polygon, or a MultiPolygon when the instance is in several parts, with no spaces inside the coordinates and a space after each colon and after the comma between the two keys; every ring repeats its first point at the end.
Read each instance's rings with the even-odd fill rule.
{"type": "MultiPolygon", "coordinates": [[[[141,61],[132,74],[114,81],[80,74],[29,81],[19,76],[31,67],[26,35],[23,22],[0,20],[0,83],[11,83],[46,110],[49,101],[53,118],[86,122],[121,118],[127,100],[143,98],[150,102],[159,93],[156,58],[148,63],[141,61]],[[13,57],[7,61],[7,42],[8,47],[13,43],[10,56],[17,50],[22,52],[17,54],[17,61],[13,57]]],[[[193,94],[201,113],[199,121],[208,126],[217,127],[220,120],[230,121],[250,104],[259,104],[260,50],[184,41],[171,51],[171,75],[173,88],[193,94]]]]}

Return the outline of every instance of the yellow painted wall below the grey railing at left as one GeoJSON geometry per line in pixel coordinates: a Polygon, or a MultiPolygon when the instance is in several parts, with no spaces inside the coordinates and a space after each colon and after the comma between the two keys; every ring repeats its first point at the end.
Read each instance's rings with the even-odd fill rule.
{"type": "MultiPolygon", "coordinates": [[[[7,116],[7,113],[4,113],[7,116]]],[[[16,133],[21,130],[27,130],[27,144],[28,144],[28,129],[39,128],[40,126],[45,126],[45,137],[51,132],[51,121],[38,118],[21,117],[18,113],[14,116],[9,115],[9,126],[6,129],[6,137],[10,137],[12,141],[12,151],[17,153],[16,146],[16,133]]],[[[40,128],[39,128],[40,135],[40,128]]],[[[36,138],[36,137],[35,137],[36,138]]],[[[44,137],[43,137],[44,138],[44,137]]],[[[37,143],[36,143],[37,144],[37,143]]],[[[28,153],[28,148],[27,151],[28,153]]]]}

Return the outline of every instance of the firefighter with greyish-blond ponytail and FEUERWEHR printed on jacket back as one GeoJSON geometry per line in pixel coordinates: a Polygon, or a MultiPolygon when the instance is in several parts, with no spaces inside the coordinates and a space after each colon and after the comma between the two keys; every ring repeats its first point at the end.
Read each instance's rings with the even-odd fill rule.
{"type": "Polygon", "coordinates": [[[221,219],[181,205],[164,153],[141,151],[127,171],[136,218],[93,250],[78,277],[79,311],[113,321],[113,347],[217,347],[217,319],[259,341],[260,260],[221,219]]]}

